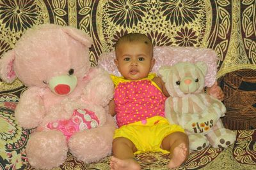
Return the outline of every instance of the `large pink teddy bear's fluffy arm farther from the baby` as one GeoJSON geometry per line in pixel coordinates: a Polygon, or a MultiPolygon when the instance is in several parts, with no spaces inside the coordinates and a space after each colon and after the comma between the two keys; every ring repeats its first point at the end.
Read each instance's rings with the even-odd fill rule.
{"type": "Polygon", "coordinates": [[[32,129],[37,127],[45,116],[45,108],[40,97],[39,87],[29,87],[20,96],[15,109],[15,118],[21,127],[32,129]]]}

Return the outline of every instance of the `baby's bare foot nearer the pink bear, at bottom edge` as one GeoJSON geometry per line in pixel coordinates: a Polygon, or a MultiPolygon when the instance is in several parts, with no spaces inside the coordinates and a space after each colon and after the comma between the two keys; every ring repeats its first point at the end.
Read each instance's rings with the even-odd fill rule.
{"type": "Polygon", "coordinates": [[[110,169],[111,170],[140,170],[140,165],[134,159],[118,159],[116,157],[111,157],[110,159],[110,169]]]}

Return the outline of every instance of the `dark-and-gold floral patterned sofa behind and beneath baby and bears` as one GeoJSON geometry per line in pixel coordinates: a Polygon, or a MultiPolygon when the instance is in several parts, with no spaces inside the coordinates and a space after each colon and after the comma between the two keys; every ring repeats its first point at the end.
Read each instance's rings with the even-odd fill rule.
{"type": "MultiPolygon", "coordinates": [[[[254,0],[2,0],[0,57],[22,33],[44,23],[72,25],[93,38],[92,66],[111,52],[127,32],[147,34],[155,46],[198,46],[218,54],[218,82],[227,107],[223,123],[236,132],[234,145],[209,146],[189,155],[176,169],[255,169],[256,167],[256,23],[254,0]]],[[[26,157],[30,131],[17,125],[13,111],[26,89],[19,80],[0,82],[0,169],[33,169],[26,157]]],[[[161,153],[136,155],[142,169],[167,169],[161,153]]],[[[55,169],[109,169],[109,157],[84,164],[70,153],[55,169]]]]}

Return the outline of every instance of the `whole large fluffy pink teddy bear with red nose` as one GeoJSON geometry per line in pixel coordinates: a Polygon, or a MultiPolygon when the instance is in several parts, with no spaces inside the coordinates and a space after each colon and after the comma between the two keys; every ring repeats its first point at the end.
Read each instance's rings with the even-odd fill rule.
{"type": "Polygon", "coordinates": [[[45,24],[29,29],[0,62],[0,74],[26,87],[15,110],[21,127],[35,129],[26,146],[31,166],[49,169],[68,150],[84,162],[111,153],[115,121],[108,114],[113,82],[90,67],[92,40],[74,27],[45,24]]]}

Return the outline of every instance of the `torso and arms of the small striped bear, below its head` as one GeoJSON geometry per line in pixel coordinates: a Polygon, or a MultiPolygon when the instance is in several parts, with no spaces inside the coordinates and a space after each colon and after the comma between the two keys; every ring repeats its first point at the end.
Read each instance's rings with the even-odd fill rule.
{"type": "Polygon", "coordinates": [[[207,134],[225,113],[222,103],[211,104],[212,101],[213,97],[204,94],[168,97],[165,101],[165,117],[171,124],[181,125],[188,134],[207,134]]]}

